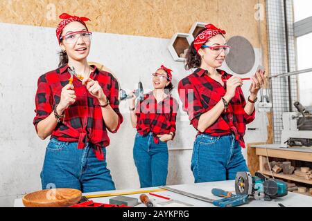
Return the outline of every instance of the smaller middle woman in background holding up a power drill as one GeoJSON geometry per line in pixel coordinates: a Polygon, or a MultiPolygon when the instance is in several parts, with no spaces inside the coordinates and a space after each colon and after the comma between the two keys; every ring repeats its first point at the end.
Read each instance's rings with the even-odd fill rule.
{"type": "Polygon", "coordinates": [[[175,137],[178,104],[171,96],[171,70],[165,66],[153,73],[154,90],[144,95],[135,107],[130,99],[132,126],[137,128],[133,157],[141,188],[166,185],[168,173],[167,142],[175,137]]]}

